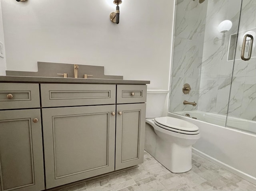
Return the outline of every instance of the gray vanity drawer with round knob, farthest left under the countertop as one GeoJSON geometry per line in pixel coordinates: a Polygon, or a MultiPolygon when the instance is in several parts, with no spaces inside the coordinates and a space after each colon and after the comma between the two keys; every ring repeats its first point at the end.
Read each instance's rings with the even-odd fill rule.
{"type": "Polygon", "coordinates": [[[0,83],[0,109],[39,107],[38,84],[0,83]]]}

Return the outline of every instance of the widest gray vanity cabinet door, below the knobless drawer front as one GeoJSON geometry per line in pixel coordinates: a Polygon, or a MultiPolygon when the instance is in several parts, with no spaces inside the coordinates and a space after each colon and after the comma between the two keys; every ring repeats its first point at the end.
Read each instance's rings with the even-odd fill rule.
{"type": "Polygon", "coordinates": [[[47,189],[114,171],[115,111],[115,105],[42,109],[47,189]]]}

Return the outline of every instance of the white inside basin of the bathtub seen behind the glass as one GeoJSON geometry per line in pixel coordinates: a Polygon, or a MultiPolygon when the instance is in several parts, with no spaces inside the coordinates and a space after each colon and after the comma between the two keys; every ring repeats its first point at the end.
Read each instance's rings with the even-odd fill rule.
{"type": "MultiPolygon", "coordinates": [[[[190,114],[190,117],[195,117],[198,120],[202,120],[211,124],[216,124],[220,126],[226,125],[226,116],[215,114],[215,113],[208,113],[199,110],[193,111],[182,111],[182,112],[175,112],[176,114],[186,115],[190,114]]],[[[238,130],[244,130],[246,132],[252,132],[256,134],[256,121],[246,120],[236,117],[228,116],[227,127],[236,128],[238,130]]]]}

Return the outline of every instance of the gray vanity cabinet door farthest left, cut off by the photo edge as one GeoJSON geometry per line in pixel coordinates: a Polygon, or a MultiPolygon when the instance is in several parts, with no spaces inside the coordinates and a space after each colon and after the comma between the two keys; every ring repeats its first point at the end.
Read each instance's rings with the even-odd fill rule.
{"type": "Polygon", "coordinates": [[[40,109],[0,111],[0,191],[44,190],[40,116],[40,109]]]}

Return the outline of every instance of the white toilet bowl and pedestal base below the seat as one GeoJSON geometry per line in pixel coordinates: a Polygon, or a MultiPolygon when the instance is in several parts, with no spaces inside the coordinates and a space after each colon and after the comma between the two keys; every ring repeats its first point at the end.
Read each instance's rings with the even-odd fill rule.
{"type": "Polygon", "coordinates": [[[145,150],[172,173],[192,169],[192,145],[199,138],[200,134],[171,132],[146,119],[145,150]]]}

